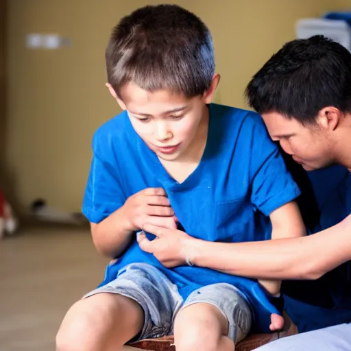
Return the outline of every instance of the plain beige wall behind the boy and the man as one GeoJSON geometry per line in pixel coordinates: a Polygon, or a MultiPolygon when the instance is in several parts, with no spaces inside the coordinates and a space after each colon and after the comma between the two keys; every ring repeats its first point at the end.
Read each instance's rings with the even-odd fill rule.
{"type": "MultiPolygon", "coordinates": [[[[96,128],[119,112],[104,86],[110,28],[143,0],[9,0],[8,167],[16,195],[79,210],[96,128]],[[29,51],[25,34],[58,33],[73,46],[29,51]]],[[[348,5],[343,0],[178,0],[213,32],[222,80],[216,101],[243,107],[252,74],[282,43],[295,21],[348,5]],[[333,7],[331,6],[333,3],[333,7]],[[335,5],[336,4],[336,5],[335,5]]]]}

